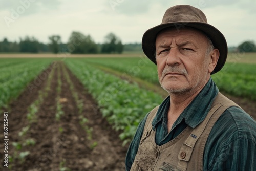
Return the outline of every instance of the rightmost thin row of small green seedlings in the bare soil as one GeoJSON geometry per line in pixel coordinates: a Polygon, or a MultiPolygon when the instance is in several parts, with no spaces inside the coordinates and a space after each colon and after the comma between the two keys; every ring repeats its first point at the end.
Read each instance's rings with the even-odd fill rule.
{"type": "MultiPolygon", "coordinates": [[[[82,115],[83,103],[84,102],[83,102],[82,99],[79,99],[79,95],[78,95],[77,91],[75,91],[74,84],[73,84],[73,82],[70,79],[70,76],[69,76],[69,74],[67,72],[66,67],[63,67],[63,73],[65,74],[65,78],[66,78],[67,82],[69,83],[70,90],[72,92],[73,98],[75,99],[76,106],[78,108],[79,124],[86,131],[86,133],[87,133],[87,140],[88,141],[92,141],[93,128],[88,126],[89,120],[82,115]]],[[[90,148],[93,149],[97,145],[98,145],[98,143],[96,141],[94,141],[94,142],[91,143],[90,148]]]]}

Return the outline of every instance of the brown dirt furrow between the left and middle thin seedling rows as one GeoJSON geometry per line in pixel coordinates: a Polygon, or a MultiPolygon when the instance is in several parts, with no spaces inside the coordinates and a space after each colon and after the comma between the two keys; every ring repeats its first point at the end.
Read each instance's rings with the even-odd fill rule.
{"type": "MultiPolygon", "coordinates": [[[[30,155],[26,161],[18,167],[19,170],[50,170],[53,162],[53,148],[52,139],[54,138],[54,117],[56,112],[56,86],[57,86],[57,72],[53,70],[53,79],[50,84],[50,91],[42,102],[38,112],[36,113],[37,121],[30,126],[28,137],[35,139],[34,146],[28,146],[27,150],[30,155]]],[[[46,93],[46,92],[45,92],[46,93]]]]}

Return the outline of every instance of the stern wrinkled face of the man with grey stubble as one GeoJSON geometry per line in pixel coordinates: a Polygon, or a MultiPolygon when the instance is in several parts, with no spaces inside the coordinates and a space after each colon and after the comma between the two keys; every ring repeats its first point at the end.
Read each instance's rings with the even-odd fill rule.
{"type": "Polygon", "coordinates": [[[159,82],[167,92],[201,90],[210,77],[206,36],[198,30],[183,28],[161,31],[156,38],[159,82]]]}

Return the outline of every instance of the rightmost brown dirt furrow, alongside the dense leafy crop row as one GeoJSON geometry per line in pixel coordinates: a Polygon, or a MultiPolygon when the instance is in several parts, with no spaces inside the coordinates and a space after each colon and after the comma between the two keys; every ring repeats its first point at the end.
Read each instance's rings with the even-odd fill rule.
{"type": "MultiPolygon", "coordinates": [[[[84,101],[83,115],[89,119],[88,126],[92,127],[92,142],[97,145],[90,152],[90,158],[84,162],[90,163],[89,170],[125,170],[124,159],[127,145],[122,147],[118,138],[119,133],[113,131],[111,125],[102,118],[96,102],[92,96],[83,88],[82,83],[67,69],[71,81],[74,83],[79,98],[84,101]]],[[[89,165],[88,165],[89,166],[89,165]]]]}

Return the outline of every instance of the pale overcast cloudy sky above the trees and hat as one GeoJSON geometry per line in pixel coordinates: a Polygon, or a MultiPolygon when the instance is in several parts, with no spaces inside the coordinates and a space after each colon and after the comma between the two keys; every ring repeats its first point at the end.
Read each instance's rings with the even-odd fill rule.
{"type": "Polygon", "coordinates": [[[110,32],[124,43],[141,42],[143,33],[161,23],[167,8],[189,4],[201,9],[208,23],[226,37],[228,46],[256,41],[255,0],[0,0],[0,41],[34,36],[49,42],[60,35],[67,42],[72,31],[103,42],[110,32]]]}

